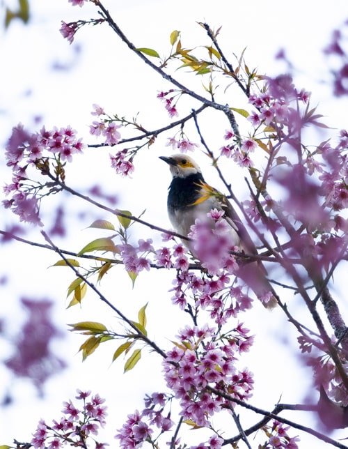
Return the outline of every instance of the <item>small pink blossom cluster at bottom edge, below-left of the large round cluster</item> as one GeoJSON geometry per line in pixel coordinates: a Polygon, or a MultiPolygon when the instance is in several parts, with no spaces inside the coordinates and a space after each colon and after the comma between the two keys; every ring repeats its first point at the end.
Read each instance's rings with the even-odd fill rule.
{"type": "MultiPolygon", "coordinates": [[[[153,393],[146,396],[145,409],[138,410],[127,416],[127,421],[118,429],[115,438],[119,440],[120,447],[124,449],[140,448],[145,441],[155,444],[159,435],[168,432],[174,423],[171,420],[171,411],[165,412],[166,406],[171,403],[172,395],[166,393],[153,393]],[[155,436],[154,429],[158,430],[155,436]]],[[[155,446],[154,446],[155,447],[155,446]]]]}

